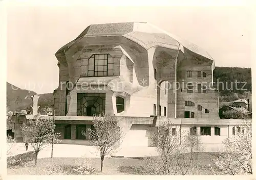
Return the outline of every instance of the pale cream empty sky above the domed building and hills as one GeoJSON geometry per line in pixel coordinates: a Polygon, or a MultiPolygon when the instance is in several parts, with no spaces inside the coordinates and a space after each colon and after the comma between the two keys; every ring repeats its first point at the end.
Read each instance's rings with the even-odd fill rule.
{"type": "Polygon", "coordinates": [[[57,50],[97,23],[150,22],[204,48],[216,66],[251,67],[245,7],[11,6],[7,18],[7,82],[38,94],[58,87],[57,50]]]}

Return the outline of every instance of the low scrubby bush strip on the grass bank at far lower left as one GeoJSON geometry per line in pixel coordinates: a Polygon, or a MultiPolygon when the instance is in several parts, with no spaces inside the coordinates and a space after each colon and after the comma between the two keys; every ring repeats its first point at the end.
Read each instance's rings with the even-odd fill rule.
{"type": "Polygon", "coordinates": [[[12,166],[22,165],[23,163],[32,161],[34,159],[35,159],[34,151],[29,151],[29,152],[22,153],[20,155],[8,157],[7,158],[7,168],[12,167],[12,166]]]}

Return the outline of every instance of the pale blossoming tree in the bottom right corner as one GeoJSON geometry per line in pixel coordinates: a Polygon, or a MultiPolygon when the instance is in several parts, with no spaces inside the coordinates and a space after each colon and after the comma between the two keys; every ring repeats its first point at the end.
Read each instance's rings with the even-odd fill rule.
{"type": "Polygon", "coordinates": [[[224,174],[252,174],[251,136],[251,121],[246,120],[241,127],[237,128],[234,136],[223,142],[225,150],[215,165],[224,174]]]}

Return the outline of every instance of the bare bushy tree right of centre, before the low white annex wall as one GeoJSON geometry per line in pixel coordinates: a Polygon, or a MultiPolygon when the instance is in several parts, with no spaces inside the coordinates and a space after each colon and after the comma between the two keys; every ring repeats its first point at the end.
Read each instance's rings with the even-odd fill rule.
{"type": "Polygon", "coordinates": [[[193,165],[186,153],[183,133],[171,121],[162,122],[152,135],[159,157],[145,158],[144,170],[153,175],[185,175],[193,165]]]}

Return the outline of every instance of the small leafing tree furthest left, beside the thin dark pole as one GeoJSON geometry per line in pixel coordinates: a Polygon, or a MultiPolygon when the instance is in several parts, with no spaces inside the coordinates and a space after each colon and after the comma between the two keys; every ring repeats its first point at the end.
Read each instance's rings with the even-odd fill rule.
{"type": "Polygon", "coordinates": [[[27,139],[35,151],[35,165],[37,164],[38,153],[45,147],[59,142],[60,133],[54,133],[55,124],[48,119],[30,120],[28,124],[22,127],[22,134],[27,139]]]}

